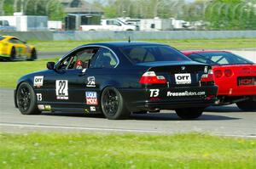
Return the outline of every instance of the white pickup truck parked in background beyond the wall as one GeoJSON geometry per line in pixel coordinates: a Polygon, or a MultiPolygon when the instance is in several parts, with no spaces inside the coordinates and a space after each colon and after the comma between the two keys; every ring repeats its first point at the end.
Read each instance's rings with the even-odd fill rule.
{"type": "Polygon", "coordinates": [[[137,31],[136,25],[127,25],[121,20],[101,21],[101,25],[80,25],[80,31],[137,31]]]}

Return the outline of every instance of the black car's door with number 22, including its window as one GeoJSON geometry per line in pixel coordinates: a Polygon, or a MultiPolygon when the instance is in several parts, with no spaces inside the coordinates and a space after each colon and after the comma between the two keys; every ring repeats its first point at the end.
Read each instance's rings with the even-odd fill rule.
{"type": "Polygon", "coordinates": [[[84,47],[67,54],[44,77],[48,104],[53,110],[84,110],[87,68],[98,47],[84,47]]]}

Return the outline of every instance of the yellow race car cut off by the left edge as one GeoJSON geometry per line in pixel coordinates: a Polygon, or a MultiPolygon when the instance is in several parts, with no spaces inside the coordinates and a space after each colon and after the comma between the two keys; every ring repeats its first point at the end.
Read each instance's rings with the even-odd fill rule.
{"type": "Polygon", "coordinates": [[[34,60],[38,58],[38,55],[34,46],[26,45],[26,42],[17,37],[0,36],[0,58],[34,60]]]}

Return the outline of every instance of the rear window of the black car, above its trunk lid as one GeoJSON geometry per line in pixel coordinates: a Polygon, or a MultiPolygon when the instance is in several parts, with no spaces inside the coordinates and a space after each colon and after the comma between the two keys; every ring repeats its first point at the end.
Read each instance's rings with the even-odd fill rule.
{"type": "Polygon", "coordinates": [[[128,46],[120,50],[126,57],[131,59],[134,64],[156,61],[183,61],[190,60],[176,49],[169,46],[145,45],[128,46]]]}

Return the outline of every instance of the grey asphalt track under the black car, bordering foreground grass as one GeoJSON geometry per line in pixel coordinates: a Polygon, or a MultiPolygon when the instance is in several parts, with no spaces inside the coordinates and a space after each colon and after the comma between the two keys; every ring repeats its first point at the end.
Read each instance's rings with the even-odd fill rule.
{"type": "Polygon", "coordinates": [[[128,120],[109,121],[102,115],[43,113],[21,115],[15,109],[12,89],[0,89],[0,132],[137,132],[173,134],[204,132],[213,135],[256,138],[256,112],[230,106],[207,108],[194,121],[183,121],[172,110],[131,115],[128,120]]]}

